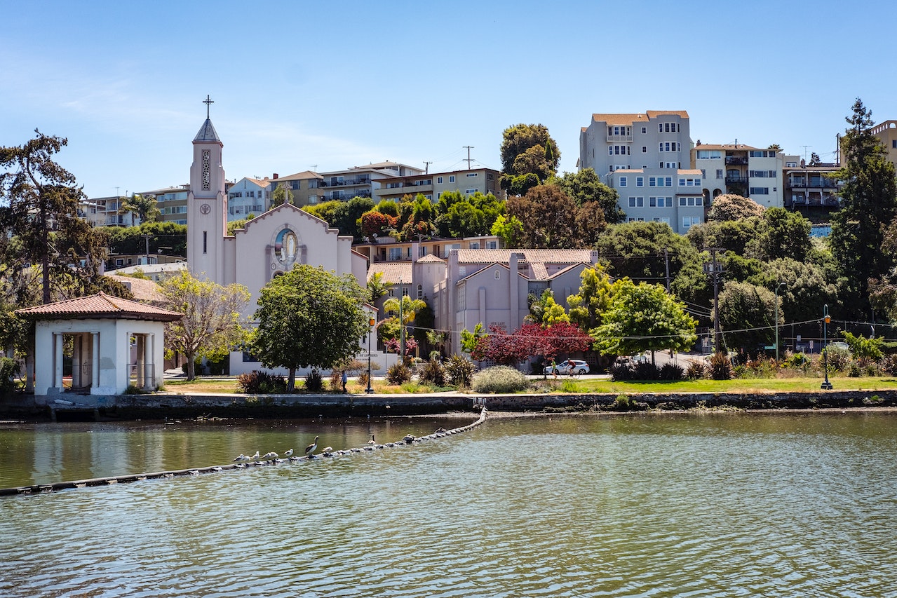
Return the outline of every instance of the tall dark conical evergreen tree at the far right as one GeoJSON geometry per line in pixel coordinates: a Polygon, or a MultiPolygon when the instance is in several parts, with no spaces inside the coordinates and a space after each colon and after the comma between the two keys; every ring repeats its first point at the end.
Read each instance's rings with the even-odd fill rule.
{"type": "Polygon", "coordinates": [[[854,316],[867,315],[869,279],[882,279],[894,265],[884,252],[884,234],[897,216],[897,179],[893,163],[872,134],[872,113],[857,99],[849,128],[841,138],[843,166],[833,177],[845,181],[841,208],[832,214],[832,248],[842,279],[840,297],[854,316]]]}

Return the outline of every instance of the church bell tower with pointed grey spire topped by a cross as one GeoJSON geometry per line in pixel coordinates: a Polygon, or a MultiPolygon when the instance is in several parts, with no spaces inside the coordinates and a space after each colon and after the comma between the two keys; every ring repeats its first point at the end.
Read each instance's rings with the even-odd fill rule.
{"type": "Polygon", "coordinates": [[[224,235],[227,232],[227,193],[222,147],[212,120],[208,96],[205,123],[193,139],[193,165],[187,194],[187,265],[196,278],[224,282],[224,235]]]}

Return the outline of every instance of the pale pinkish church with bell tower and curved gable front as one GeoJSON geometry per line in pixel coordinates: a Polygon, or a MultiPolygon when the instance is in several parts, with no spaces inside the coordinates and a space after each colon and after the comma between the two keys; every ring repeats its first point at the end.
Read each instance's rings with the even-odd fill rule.
{"type": "MultiPolygon", "coordinates": [[[[296,264],[322,266],[337,275],[352,274],[365,286],[367,258],[353,251],[352,237],[340,235],[326,221],[292,204],[279,205],[257,216],[229,236],[222,148],[212,120],[206,115],[193,140],[187,195],[187,265],[196,278],[221,285],[234,282],[244,285],[251,299],[243,316],[250,319],[257,309],[262,287],[296,264]]],[[[367,309],[376,318],[376,309],[371,306],[367,309]]],[[[376,336],[370,341],[370,346],[377,346],[376,336]]],[[[362,340],[360,352],[367,351],[367,342],[367,338],[362,340]]],[[[359,358],[367,360],[367,352],[359,358]]],[[[388,356],[381,353],[375,359],[380,368],[372,369],[382,373],[388,366],[388,356]]],[[[258,361],[242,351],[231,352],[230,365],[231,375],[262,369],[258,361]]]]}

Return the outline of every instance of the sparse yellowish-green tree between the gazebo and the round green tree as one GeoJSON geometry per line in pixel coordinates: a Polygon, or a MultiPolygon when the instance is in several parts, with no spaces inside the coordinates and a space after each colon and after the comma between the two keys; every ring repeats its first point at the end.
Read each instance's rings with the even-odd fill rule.
{"type": "Polygon", "coordinates": [[[178,322],[165,325],[165,346],[187,358],[188,380],[196,377],[197,357],[221,355],[245,341],[240,313],[249,300],[249,291],[243,285],[222,287],[181,270],[161,282],[161,292],[170,309],[184,314],[178,322]]]}

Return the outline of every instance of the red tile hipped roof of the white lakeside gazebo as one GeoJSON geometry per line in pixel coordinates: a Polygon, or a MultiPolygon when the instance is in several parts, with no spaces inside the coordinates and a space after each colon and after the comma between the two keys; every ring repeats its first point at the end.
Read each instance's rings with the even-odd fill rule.
{"type": "Polygon", "coordinates": [[[152,305],[129,299],[110,297],[106,293],[65,299],[65,301],[33,308],[16,309],[15,313],[36,320],[124,318],[174,322],[184,316],[177,311],[154,308],[152,305]]]}

